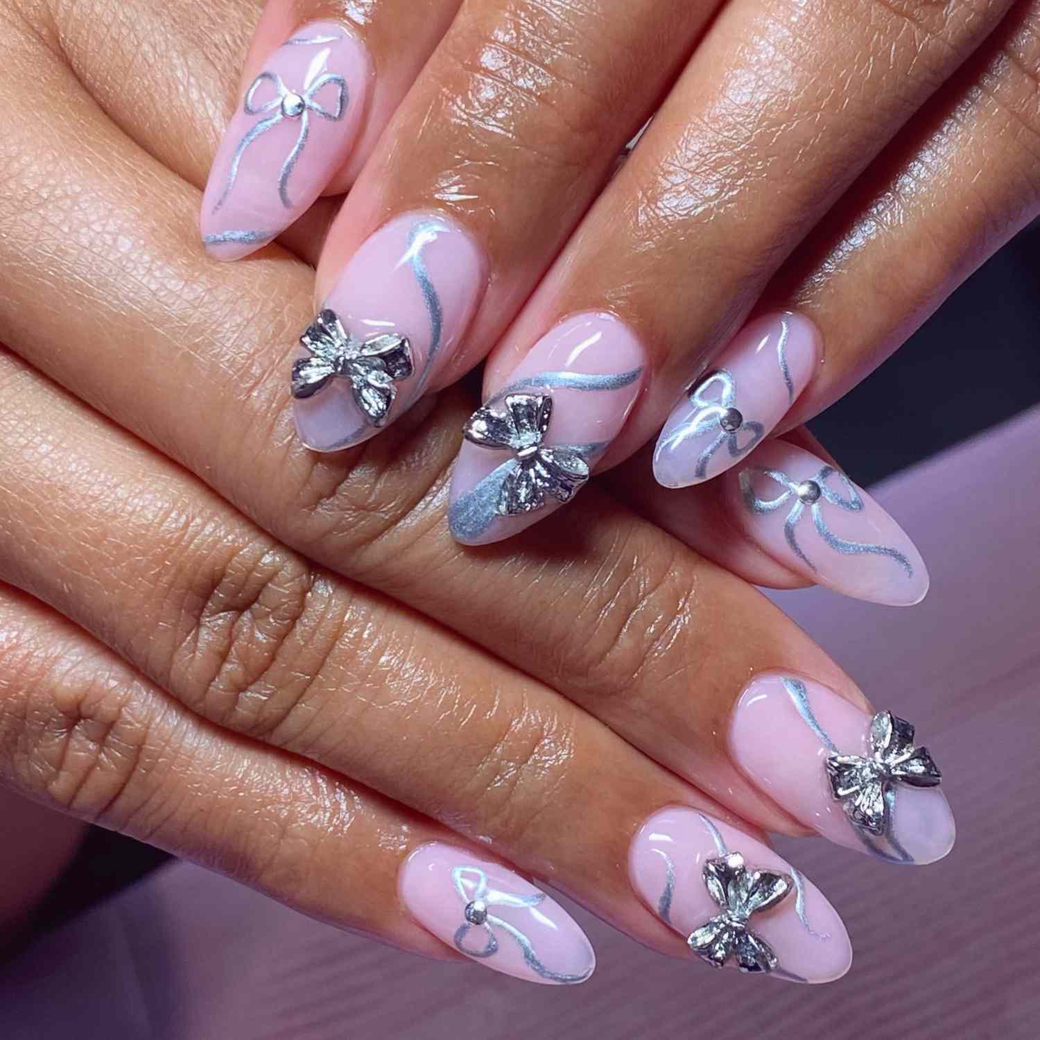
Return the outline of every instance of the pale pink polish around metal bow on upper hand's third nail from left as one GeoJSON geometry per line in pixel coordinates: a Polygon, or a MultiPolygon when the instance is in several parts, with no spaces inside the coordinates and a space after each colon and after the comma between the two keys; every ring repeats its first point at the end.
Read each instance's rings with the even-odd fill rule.
{"type": "MultiPolygon", "coordinates": [[[[606,313],[583,313],[567,318],[540,339],[505,381],[505,387],[542,372],[579,372],[615,375],[642,369],[629,385],[614,390],[573,390],[561,387],[524,387],[521,393],[549,393],[553,412],[544,443],[551,445],[603,444],[601,456],[621,431],[639,397],[646,378],[647,355],[635,334],[619,318],[606,313]]],[[[496,392],[501,393],[502,388],[496,392]]],[[[496,409],[504,409],[498,402],[496,409]]],[[[451,478],[451,502],[457,502],[489,473],[510,460],[506,451],[493,451],[464,443],[451,478]]],[[[595,459],[593,460],[595,463],[595,459]]],[[[467,545],[486,545],[511,538],[543,520],[564,504],[549,499],[532,513],[498,517],[477,538],[465,537],[454,526],[452,535],[467,545]]],[[[450,517],[449,517],[450,519],[450,517]]]]}

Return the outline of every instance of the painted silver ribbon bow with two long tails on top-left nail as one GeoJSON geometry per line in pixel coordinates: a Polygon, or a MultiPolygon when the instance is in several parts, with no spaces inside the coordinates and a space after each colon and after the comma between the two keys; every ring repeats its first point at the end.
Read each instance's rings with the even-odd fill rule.
{"type": "Polygon", "coordinates": [[[225,184],[223,194],[213,207],[213,212],[215,213],[227,202],[228,196],[231,194],[231,189],[235,186],[235,180],[238,177],[238,167],[241,164],[245,150],[258,137],[262,137],[268,130],[272,130],[285,120],[293,120],[300,123],[296,141],[292,146],[292,150],[286,157],[285,162],[282,163],[282,170],[278,177],[279,198],[286,209],[291,209],[292,200],[289,199],[289,178],[296,167],[296,161],[307,147],[311,116],[317,115],[320,119],[338,123],[343,118],[346,105],[346,80],[336,73],[323,73],[313,82],[308,83],[303,92],[298,94],[286,86],[285,81],[278,73],[260,73],[245,92],[242,110],[246,115],[266,115],[266,118],[250,127],[238,142],[234,157],[231,160],[231,167],[228,171],[228,181],[225,184]],[[268,101],[257,102],[257,94],[264,84],[274,86],[275,97],[268,101]],[[332,107],[326,107],[326,105],[317,100],[317,96],[321,90],[330,86],[333,87],[333,105],[332,107]],[[266,113],[268,112],[272,114],[267,115],[266,113]]]}

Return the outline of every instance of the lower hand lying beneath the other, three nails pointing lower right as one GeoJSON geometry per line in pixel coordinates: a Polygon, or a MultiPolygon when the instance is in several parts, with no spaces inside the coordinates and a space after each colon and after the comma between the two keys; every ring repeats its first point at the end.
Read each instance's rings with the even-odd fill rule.
{"type": "Polygon", "coordinates": [[[233,42],[192,43],[188,3],[2,9],[5,107],[36,113],[0,137],[8,782],[534,981],[578,981],[590,951],[503,860],[662,952],[696,933],[709,960],[840,974],[839,919],[758,828],[938,858],[953,822],[927,753],[899,775],[906,731],[872,730],[804,633],[596,490],[521,551],[459,546],[460,391],[362,449],[303,448],[282,362],[313,272],[278,249],[212,263],[190,230],[233,42]],[[839,790],[863,755],[857,802],[839,790]],[[724,854],[779,875],[754,942],[702,930],[706,861],[740,869],[724,854]]]}

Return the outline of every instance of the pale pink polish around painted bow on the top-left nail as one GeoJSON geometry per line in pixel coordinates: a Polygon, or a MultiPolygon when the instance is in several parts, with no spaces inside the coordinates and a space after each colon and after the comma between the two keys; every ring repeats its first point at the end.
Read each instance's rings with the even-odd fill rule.
{"type": "MultiPolygon", "coordinates": [[[[297,94],[326,73],[342,76],[346,82],[342,118],[334,121],[314,112],[310,114],[307,144],[287,183],[290,208],[282,202],[278,182],[282,165],[296,144],[301,124],[298,120],[283,119],[242,153],[235,183],[217,209],[239,142],[257,123],[274,114],[250,115],[243,108],[244,99],[239,100],[206,184],[200,231],[204,241],[232,231],[263,232],[267,237],[250,243],[207,242],[206,249],[213,257],[237,260],[276,238],[310,208],[349,155],[364,120],[371,64],[360,41],[337,22],[313,22],[293,33],[293,38],[329,35],[338,38],[326,44],[283,44],[262,71],[281,76],[285,86],[297,94]]],[[[275,86],[265,83],[259,88],[255,104],[276,95],[275,86]]],[[[314,100],[332,110],[335,97],[336,88],[329,84],[315,94],[314,100]]]]}

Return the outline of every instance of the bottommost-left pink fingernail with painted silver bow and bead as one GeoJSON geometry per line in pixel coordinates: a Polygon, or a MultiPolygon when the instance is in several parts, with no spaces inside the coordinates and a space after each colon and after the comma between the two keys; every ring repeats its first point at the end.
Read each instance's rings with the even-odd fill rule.
{"type": "Polygon", "coordinates": [[[592,944],[558,903],[464,849],[420,846],[401,866],[398,889],[424,929],[495,971],[566,986],[596,967],[592,944]]]}

